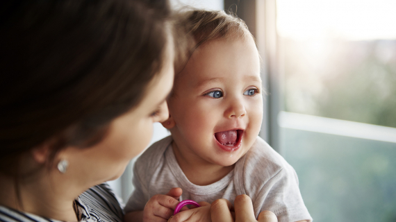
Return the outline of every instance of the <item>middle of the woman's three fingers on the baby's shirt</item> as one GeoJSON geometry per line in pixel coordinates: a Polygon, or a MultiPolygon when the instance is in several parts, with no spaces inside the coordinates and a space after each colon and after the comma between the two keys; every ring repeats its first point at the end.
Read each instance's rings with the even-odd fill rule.
{"type": "Polygon", "coordinates": [[[249,196],[242,194],[235,198],[233,203],[235,206],[236,222],[253,222],[254,217],[253,204],[249,196]]]}

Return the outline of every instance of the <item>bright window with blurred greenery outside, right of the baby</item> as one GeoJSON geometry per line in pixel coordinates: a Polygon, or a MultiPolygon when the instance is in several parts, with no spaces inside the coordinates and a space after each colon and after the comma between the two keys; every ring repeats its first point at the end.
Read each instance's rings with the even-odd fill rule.
{"type": "Polygon", "coordinates": [[[396,1],[277,0],[280,151],[316,221],[396,220],[396,1]]]}

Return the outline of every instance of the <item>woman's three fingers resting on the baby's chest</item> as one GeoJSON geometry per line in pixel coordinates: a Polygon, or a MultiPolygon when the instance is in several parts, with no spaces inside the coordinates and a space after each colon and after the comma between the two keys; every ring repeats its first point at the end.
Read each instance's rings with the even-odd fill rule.
{"type": "MultiPolygon", "coordinates": [[[[253,205],[249,196],[237,196],[235,207],[229,200],[215,200],[211,205],[211,219],[216,222],[257,222],[254,216],[253,205]],[[235,210],[235,213],[234,213],[235,210]]],[[[270,211],[263,211],[258,215],[258,222],[277,222],[277,216],[270,211]]]]}

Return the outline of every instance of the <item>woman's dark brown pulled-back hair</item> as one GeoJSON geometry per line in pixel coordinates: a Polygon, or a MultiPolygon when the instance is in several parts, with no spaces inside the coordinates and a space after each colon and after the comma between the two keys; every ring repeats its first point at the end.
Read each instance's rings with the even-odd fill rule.
{"type": "Polygon", "coordinates": [[[47,143],[88,147],[140,103],[160,72],[164,0],[1,1],[0,173],[47,143]]]}

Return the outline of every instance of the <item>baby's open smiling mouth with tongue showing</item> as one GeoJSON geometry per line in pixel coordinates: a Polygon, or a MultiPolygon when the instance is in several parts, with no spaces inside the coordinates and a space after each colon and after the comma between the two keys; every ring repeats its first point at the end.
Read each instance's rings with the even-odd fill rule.
{"type": "Polygon", "coordinates": [[[213,136],[215,137],[216,143],[218,146],[220,146],[220,148],[222,148],[224,151],[232,152],[240,148],[243,133],[244,130],[228,130],[223,132],[217,132],[213,136]],[[236,135],[235,135],[235,131],[236,131],[236,135]],[[226,138],[233,140],[233,137],[235,136],[236,136],[235,142],[226,142],[227,140],[226,138]]]}

